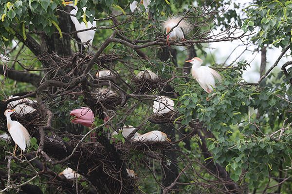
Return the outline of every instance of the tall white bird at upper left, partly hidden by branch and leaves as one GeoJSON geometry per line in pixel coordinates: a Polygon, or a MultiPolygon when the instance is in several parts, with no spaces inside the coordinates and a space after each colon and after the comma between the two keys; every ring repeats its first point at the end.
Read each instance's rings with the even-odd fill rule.
{"type": "MultiPolygon", "coordinates": [[[[93,21],[92,23],[90,21],[87,21],[87,26],[84,22],[79,22],[78,19],[75,17],[78,11],[77,6],[74,6],[73,1],[66,1],[65,2],[66,5],[72,6],[74,7],[74,9],[70,12],[71,15],[74,16],[70,16],[71,20],[73,22],[73,24],[75,25],[75,29],[76,31],[81,31],[81,30],[86,30],[86,29],[90,29],[92,27],[96,27],[96,21],[93,21]]],[[[83,12],[85,12],[86,7],[82,8],[83,12]]],[[[90,46],[92,46],[92,41],[94,38],[94,34],[95,34],[95,30],[88,30],[88,31],[84,31],[84,32],[77,32],[77,36],[78,38],[80,38],[82,43],[89,43],[90,46]]],[[[85,47],[87,47],[87,45],[84,45],[85,47]]]]}

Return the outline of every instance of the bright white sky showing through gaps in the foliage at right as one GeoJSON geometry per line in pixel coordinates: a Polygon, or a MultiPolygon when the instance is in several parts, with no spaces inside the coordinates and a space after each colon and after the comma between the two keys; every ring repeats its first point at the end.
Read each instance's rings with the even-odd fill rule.
{"type": "MultiPolygon", "coordinates": [[[[249,3],[252,0],[234,0],[233,2],[239,3],[239,6],[242,8],[244,7],[244,3],[249,3]]],[[[233,8],[233,3],[230,4],[229,9],[233,8]]],[[[238,14],[244,14],[244,12],[240,11],[238,14]]],[[[219,32],[219,30],[217,31],[219,32]]],[[[216,31],[215,31],[216,33],[216,31]]],[[[242,39],[244,42],[247,42],[246,38],[242,39]]],[[[210,43],[209,48],[207,49],[208,54],[213,54],[214,58],[216,59],[216,64],[224,63],[224,61],[228,58],[230,53],[235,49],[235,51],[230,55],[228,60],[226,61],[226,64],[232,63],[237,57],[242,53],[242,51],[246,48],[241,40],[234,40],[234,41],[227,41],[227,42],[217,42],[217,43],[210,43]],[[238,45],[241,45],[237,47],[238,45]]],[[[261,61],[261,53],[260,52],[253,52],[253,50],[257,49],[256,47],[249,47],[249,50],[251,51],[245,51],[244,54],[242,54],[241,57],[237,59],[237,61],[244,61],[247,60],[248,63],[250,63],[250,67],[247,68],[247,70],[243,73],[243,79],[248,82],[256,82],[259,79],[259,67],[260,67],[260,61],[261,61]]],[[[270,68],[278,56],[281,53],[281,48],[270,48],[267,49],[267,67],[270,68]]],[[[279,70],[280,67],[287,61],[291,61],[292,57],[283,57],[280,62],[278,63],[278,66],[273,69],[273,71],[279,70]]]]}

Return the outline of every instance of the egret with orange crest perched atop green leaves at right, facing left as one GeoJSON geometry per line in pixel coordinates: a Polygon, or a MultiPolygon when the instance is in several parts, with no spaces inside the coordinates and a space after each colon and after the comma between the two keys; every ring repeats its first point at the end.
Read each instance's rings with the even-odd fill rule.
{"type": "Polygon", "coordinates": [[[198,57],[194,57],[188,60],[192,64],[192,76],[195,78],[201,87],[207,92],[211,93],[215,88],[215,79],[221,80],[221,76],[217,71],[207,66],[201,66],[203,60],[198,57]]]}

